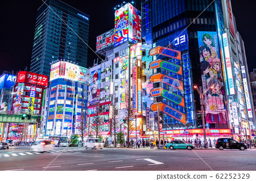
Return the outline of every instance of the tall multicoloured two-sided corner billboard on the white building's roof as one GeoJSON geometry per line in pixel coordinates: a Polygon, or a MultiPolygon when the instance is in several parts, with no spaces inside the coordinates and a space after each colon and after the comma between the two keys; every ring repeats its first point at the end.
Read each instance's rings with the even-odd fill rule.
{"type": "Polygon", "coordinates": [[[130,41],[141,42],[141,12],[127,3],[115,11],[115,43],[114,46],[130,41]]]}

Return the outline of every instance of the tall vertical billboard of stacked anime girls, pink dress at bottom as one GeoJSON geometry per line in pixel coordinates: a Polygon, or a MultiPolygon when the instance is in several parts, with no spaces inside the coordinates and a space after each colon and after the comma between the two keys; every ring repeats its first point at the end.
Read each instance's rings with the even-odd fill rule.
{"type": "Polygon", "coordinates": [[[226,124],[224,82],[217,32],[197,31],[206,123],[226,124]]]}

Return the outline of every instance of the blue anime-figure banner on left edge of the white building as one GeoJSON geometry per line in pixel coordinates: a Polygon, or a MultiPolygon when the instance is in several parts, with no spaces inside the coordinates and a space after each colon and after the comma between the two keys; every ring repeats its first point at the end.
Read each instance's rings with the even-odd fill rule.
{"type": "Polygon", "coordinates": [[[89,106],[100,104],[101,69],[93,70],[90,73],[90,95],[89,106]]]}

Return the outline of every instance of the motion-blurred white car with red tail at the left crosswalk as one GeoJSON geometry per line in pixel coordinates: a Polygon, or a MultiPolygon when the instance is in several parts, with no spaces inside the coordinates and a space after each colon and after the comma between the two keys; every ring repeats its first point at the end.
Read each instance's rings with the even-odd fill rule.
{"type": "Polygon", "coordinates": [[[43,152],[43,151],[51,151],[55,147],[55,142],[52,140],[43,140],[43,141],[36,141],[31,146],[31,151],[35,152],[43,152]]]}

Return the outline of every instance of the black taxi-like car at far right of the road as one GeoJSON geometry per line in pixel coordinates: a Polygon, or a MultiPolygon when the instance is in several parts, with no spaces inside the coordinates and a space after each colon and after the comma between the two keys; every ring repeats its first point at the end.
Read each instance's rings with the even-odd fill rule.
{"type": "Polygon", "coordinates": [[[247,146],[241,142],[237,142],[232,138],[218,138],[216,141],[216,148],[223,149],[240,149],[245,150],[247,146]]]}

